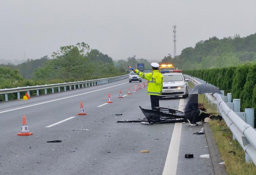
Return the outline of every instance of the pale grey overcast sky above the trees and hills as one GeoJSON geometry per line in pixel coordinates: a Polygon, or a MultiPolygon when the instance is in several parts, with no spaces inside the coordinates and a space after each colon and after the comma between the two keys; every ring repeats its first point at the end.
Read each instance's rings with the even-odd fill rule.
{"type": "Polygon", "coordinates": [[[161,60],[199,40],[256,32],[256,0],[0,0],[0,59],[86,42],[114,60],[161,60]]]}

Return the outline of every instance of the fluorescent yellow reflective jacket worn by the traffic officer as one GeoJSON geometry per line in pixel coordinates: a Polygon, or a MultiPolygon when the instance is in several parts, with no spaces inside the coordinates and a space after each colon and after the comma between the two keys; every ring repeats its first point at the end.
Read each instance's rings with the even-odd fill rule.
{"type": "Polygon", "coordinates": [[[136,70],[141,78],[144,78],[148,81],[147,94],[160,96],[163,89],[163,75],[159,73],[158,70],[153,70],[153,73],[143,73],[139,70],[136,70]]]}

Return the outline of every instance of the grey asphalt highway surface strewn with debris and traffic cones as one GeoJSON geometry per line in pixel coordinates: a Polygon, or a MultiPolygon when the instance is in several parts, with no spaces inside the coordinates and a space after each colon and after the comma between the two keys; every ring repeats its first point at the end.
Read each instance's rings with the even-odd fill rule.
{"type": "MultiPolygon", "coordinates": [[[[144,118],[147,88],[118,98],[128,78],[72,91],[0,103],[0,174],[213,175],[202,125],[116,123],[144,118]],[[112,104],[106,104],[108,93],[112,104]],[[87,115],[78,116],[80,101],[87,115]],[[17,136],[22,115],[32,136],[17,136]],[[122,114],[122,115],[115,115],[122,114]],[[47,141],[62,140],[60,143],[47,141]],[[140,153],[149,150],[148,153],[140,153]],[[191,153],[193,159],[184,155],[191,153]]],[[[183,110],[187,99],[165,98],[161,107],[183,110]]]]}

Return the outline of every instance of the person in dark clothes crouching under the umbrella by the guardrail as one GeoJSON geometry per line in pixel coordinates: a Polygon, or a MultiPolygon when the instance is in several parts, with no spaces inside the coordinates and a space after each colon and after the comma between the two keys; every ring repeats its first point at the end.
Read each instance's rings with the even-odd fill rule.
{"type": "Polygon", "coordinates": [[[197,126],[198,124],[196,122],[204,121],[206,117],[210,116],[210,114],[204,112],[206,112],[206,109],[203,104],[198,103],[197,94],[193,94],[192,97],[189,98],[184,111],[189,124],[191,126],[197,126]]]}

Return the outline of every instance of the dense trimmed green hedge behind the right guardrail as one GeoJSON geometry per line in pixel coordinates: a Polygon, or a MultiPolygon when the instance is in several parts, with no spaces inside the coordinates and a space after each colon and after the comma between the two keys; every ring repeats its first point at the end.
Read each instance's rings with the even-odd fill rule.
{"type": "Polygon", "coordinates": [[[233,99],[241,99],[242,111],[244,108],[255,108],[256,114],[256,63],[236,67],[182,70],[182,73],[203,79],[225,90],[225,94],[232,93],[233,99]]]}

